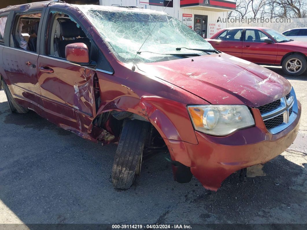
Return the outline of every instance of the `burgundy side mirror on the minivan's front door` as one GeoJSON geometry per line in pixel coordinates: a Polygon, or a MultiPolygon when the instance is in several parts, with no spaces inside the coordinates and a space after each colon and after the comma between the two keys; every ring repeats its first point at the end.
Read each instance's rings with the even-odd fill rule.
{"type": "Polygon", "coordinates": [[[88,48],[84,43],[72,43],[65,47],[66,59],[80,65],[90,65],[88,48]]]}

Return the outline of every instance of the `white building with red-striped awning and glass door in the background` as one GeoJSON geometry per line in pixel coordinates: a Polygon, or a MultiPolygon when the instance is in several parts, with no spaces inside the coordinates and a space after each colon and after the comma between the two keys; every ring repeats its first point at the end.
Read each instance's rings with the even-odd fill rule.
{"type": "Polygon", "coordinates": [[[227,27],[218,18],[227,18],[235,10],[235,1],[228,0],[99,0],[102,6],[138,6],[163,11],[183,21],[204,38],[227,27]],[[167,6],[167,7],[166,7],[167,6]]]}

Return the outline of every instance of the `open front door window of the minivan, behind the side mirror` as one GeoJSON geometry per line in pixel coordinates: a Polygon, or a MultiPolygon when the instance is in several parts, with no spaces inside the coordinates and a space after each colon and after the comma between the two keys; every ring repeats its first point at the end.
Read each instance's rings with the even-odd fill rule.
{"type": "Polygon", "coordinates": [[[56,14],[51,25],[50,55],[65,58],[65,47],[68,44],[82,42],[91,49],[90,39],[80,25],[72,21],[68,15],[56,14]]]}

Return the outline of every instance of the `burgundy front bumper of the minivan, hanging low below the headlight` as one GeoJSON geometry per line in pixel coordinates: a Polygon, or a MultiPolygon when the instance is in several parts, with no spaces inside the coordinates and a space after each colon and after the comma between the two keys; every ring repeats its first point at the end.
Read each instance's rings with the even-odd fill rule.
{"type": "Polygon", "coordinates": [[[222,181],[235,171],[266,163],[293,143],[301,117],[301,104],[298,101],[297,107],[296,119],[277,134],[270,134],[259,110],[252,109],[255,127],[239,130],[225,137],[195,131],[197,145],[174,140],[165,142],[173,161],[190,167],[192,174],[206,189],[217,191],[222,181]]]}

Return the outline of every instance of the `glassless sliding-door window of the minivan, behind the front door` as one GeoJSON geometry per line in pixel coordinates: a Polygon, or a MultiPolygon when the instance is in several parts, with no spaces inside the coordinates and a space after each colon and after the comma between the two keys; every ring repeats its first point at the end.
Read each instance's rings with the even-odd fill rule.
{"type": "Polygon", "coordinates": [[[41,13],[16,15],[10,37],[10,47],[36,52],[40,21],[41,13]]]}

